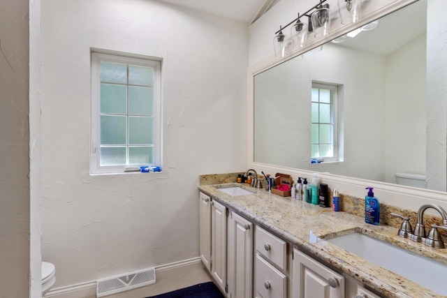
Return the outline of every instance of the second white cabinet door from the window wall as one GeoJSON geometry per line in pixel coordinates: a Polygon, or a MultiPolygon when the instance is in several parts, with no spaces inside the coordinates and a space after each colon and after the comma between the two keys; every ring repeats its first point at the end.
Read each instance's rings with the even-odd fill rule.
{"type": "Polygon", "coordinates": [[[226,207],[212,201],[211,207],[211,274],[221,290],[226,287],[226,207]]]}

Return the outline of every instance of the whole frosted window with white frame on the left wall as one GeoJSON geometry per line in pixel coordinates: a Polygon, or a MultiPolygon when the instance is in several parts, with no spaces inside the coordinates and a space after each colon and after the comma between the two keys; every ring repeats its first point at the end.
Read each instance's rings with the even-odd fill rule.
{"type": "Polygon", "coordinates": [[[161,166],[160,67],[91,53],[91,173],[161,166]]]}

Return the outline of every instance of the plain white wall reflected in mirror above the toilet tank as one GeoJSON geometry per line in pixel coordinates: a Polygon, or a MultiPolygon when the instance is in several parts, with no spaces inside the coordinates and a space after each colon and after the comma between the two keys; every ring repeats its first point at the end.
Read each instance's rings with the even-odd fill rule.
{"type": "Polygon", "coordinates": [[[397,172],[425,174],[426,38],[418,36],[386,57],[386,182],[396,183],[397,172]]]}

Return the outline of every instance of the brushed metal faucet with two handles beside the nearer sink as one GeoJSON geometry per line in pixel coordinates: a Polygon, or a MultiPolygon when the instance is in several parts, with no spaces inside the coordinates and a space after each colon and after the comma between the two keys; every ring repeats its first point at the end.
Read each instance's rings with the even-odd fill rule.
{"type": "Polygon", "coordinates": [[[416,227],[414,228],[414,232],[411,230],[411,225],[409,223],[409,218],[405,216],[401,216],[399,214],[391,214],[395,217],[400,217],[404,220],[402,226],[400,227],[399,232],[397,234],[400,237],[409,238],[415,242],[421,242],[426,244],[427,246],[432,246],[434,248],[444,248],[444,241],[442,241],[441,234],[439,234],[437,228],[442,230],[447,230],[447,212],[439,207],[437,204],[424,204],[418,210],[418,220],[416,221],[416,227]],[[432,225],[432,230],[426,236],[425,234],[425,226],[424,226],[424,213],[425,210],[432,208],[435,209],[441,214],[442,217],[442,225],[432,225]]]}

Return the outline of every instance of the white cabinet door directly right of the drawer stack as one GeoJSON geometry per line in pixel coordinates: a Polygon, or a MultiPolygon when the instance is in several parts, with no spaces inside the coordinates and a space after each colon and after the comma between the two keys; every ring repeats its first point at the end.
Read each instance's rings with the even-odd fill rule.
{"type": "Polygon", "coordinates": [[[344,277],[310,258],[293,250],[294,298],[344,298],[344,277]]]}

